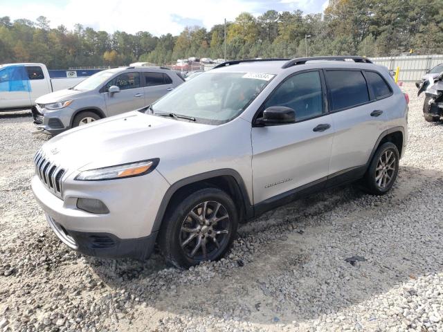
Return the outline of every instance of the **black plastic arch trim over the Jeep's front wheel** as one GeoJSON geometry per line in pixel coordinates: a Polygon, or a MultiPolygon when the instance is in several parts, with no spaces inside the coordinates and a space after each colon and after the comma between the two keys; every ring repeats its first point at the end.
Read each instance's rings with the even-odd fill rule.
{"type": "Polygon", "coordinates": [[[240,220],[249,219],[253,216],[253,206],[242,176],[234,169],[217,169],[183,178],[171,185],[163,196],[152,226],[152,232],[160,230],[165,213],[177,197],[181,194],[190,194],[190,192],[195,192],[204,187],[218,187],[229,194],[237,207],[240,220]]]}

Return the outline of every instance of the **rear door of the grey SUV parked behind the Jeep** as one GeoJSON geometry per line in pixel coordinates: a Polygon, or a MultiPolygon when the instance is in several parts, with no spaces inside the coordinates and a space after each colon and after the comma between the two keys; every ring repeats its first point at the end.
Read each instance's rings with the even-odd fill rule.
{"type": "Polygon", "coordinates": [[[168,74],[159,72],[143,72],[143,90],[145,91],[145,103],[152,104],[174,89],[172,79],[168,74]]]}

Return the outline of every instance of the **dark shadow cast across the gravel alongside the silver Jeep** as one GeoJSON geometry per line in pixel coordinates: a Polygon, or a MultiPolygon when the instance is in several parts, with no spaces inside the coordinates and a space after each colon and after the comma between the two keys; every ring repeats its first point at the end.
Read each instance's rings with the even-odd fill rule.
{"type": "MultiPolygon", "coordinates": [[[[217,263],[177,270],[166,269],[160,255],[144,263],[88,261],[108,286],[130,290],[166,313],[254,324],[302,322],[440,273],[443,225],[434,210],[439,196],[443,172],[402,166],[385,196],[339,187],[242,225],[233,250],[217,263]]],[[[150,319],[136,317],[134,324],[150,319]]]]}

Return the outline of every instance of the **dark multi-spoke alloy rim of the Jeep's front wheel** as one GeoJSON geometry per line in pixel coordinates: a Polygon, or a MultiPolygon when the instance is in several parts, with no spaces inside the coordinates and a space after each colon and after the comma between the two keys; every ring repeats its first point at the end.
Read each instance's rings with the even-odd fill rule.
{"type": "Polygon", "coordinates": [[[196,261],[215,259],[229,241],[228,210],[219,202],[205,201],[190,210],[180,229],[180,246],[196,261]]]}

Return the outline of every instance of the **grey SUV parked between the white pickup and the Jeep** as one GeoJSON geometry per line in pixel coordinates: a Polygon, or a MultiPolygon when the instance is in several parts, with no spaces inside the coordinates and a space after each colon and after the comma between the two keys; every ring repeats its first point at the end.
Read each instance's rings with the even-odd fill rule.
{"type": "Polygon", "coordinates": [[[152,104],[183,83],[164,67],[120,67],[100,71],[71,89],[35,100],[34,122],[45,133],[57,134],[101,118],[152,104]]]}

